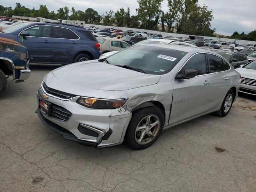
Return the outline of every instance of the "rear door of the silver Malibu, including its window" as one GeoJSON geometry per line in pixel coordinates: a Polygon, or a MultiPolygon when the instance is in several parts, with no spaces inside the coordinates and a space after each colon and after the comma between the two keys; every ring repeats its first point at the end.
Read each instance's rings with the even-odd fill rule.
{"type": "Polygon", "coordinates": [[[208,92],[208,111],[216,110],[223,102],[232,81],[232,70],[230,65],[222,58],[207,54],[208,74],[210,74],[210,89],[208,92]]]}

